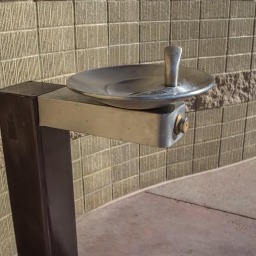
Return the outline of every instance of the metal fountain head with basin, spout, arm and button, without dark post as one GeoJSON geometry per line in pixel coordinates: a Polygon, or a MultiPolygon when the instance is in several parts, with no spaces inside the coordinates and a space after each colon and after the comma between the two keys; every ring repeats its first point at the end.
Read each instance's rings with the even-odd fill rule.
{"type": "Polygon", "coordinates": [[[179,67],[181,52],[167,46],[165,65],[106,67],[71,76],[68,88],[38,97],[40,125],[170,147],[188,129],[183,101],[214,84],[204,71],[179,67]]]}

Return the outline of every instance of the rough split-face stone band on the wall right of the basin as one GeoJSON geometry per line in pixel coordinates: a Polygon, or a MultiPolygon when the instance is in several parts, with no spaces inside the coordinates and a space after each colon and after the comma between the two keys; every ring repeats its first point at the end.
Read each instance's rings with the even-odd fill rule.
{"type": "Polygon", "coordinates": [[[213,88],[198,95],[196,109],[218,108],[248,101],[250,71],[215,76],[213,88]]]}

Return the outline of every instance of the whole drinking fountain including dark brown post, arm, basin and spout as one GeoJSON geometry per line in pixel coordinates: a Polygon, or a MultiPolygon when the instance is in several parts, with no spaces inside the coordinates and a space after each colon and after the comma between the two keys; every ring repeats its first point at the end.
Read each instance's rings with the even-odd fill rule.
{"type": "MultiPolygon", "coordinates": [[[[165,65],[83,71],[68,86],[26,82],[0,90],[0,126],[19,255],[77,256],[69,131],[169,147],[188,129],[185,103],[214,78],[165,65]]],[[[76,154],[76,153],[73,153],[76,154]]]]}

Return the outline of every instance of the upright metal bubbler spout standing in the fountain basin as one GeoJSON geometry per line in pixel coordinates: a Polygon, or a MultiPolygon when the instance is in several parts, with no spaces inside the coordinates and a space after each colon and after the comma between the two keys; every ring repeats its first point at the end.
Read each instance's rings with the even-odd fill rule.
{"type": "Polygon", "coordinates": [[[167,46],[164,49],[164,84],[175,87],[178,85],[179,66],[182,48],[179,46],[167,46]]]}

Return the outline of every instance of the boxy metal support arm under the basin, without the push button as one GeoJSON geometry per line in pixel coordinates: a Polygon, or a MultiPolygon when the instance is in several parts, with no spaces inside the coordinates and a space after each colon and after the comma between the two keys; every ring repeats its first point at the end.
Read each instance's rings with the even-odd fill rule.
{"type": "Polygon", "coordinates": [[[170,147],[183,134],[175,134],[175,119],[185,114],[183,102],[164,109],[129,110],[111,107],[79,95],[67,87],[38,97],[39,125],[141,143],[170,147]]]}

